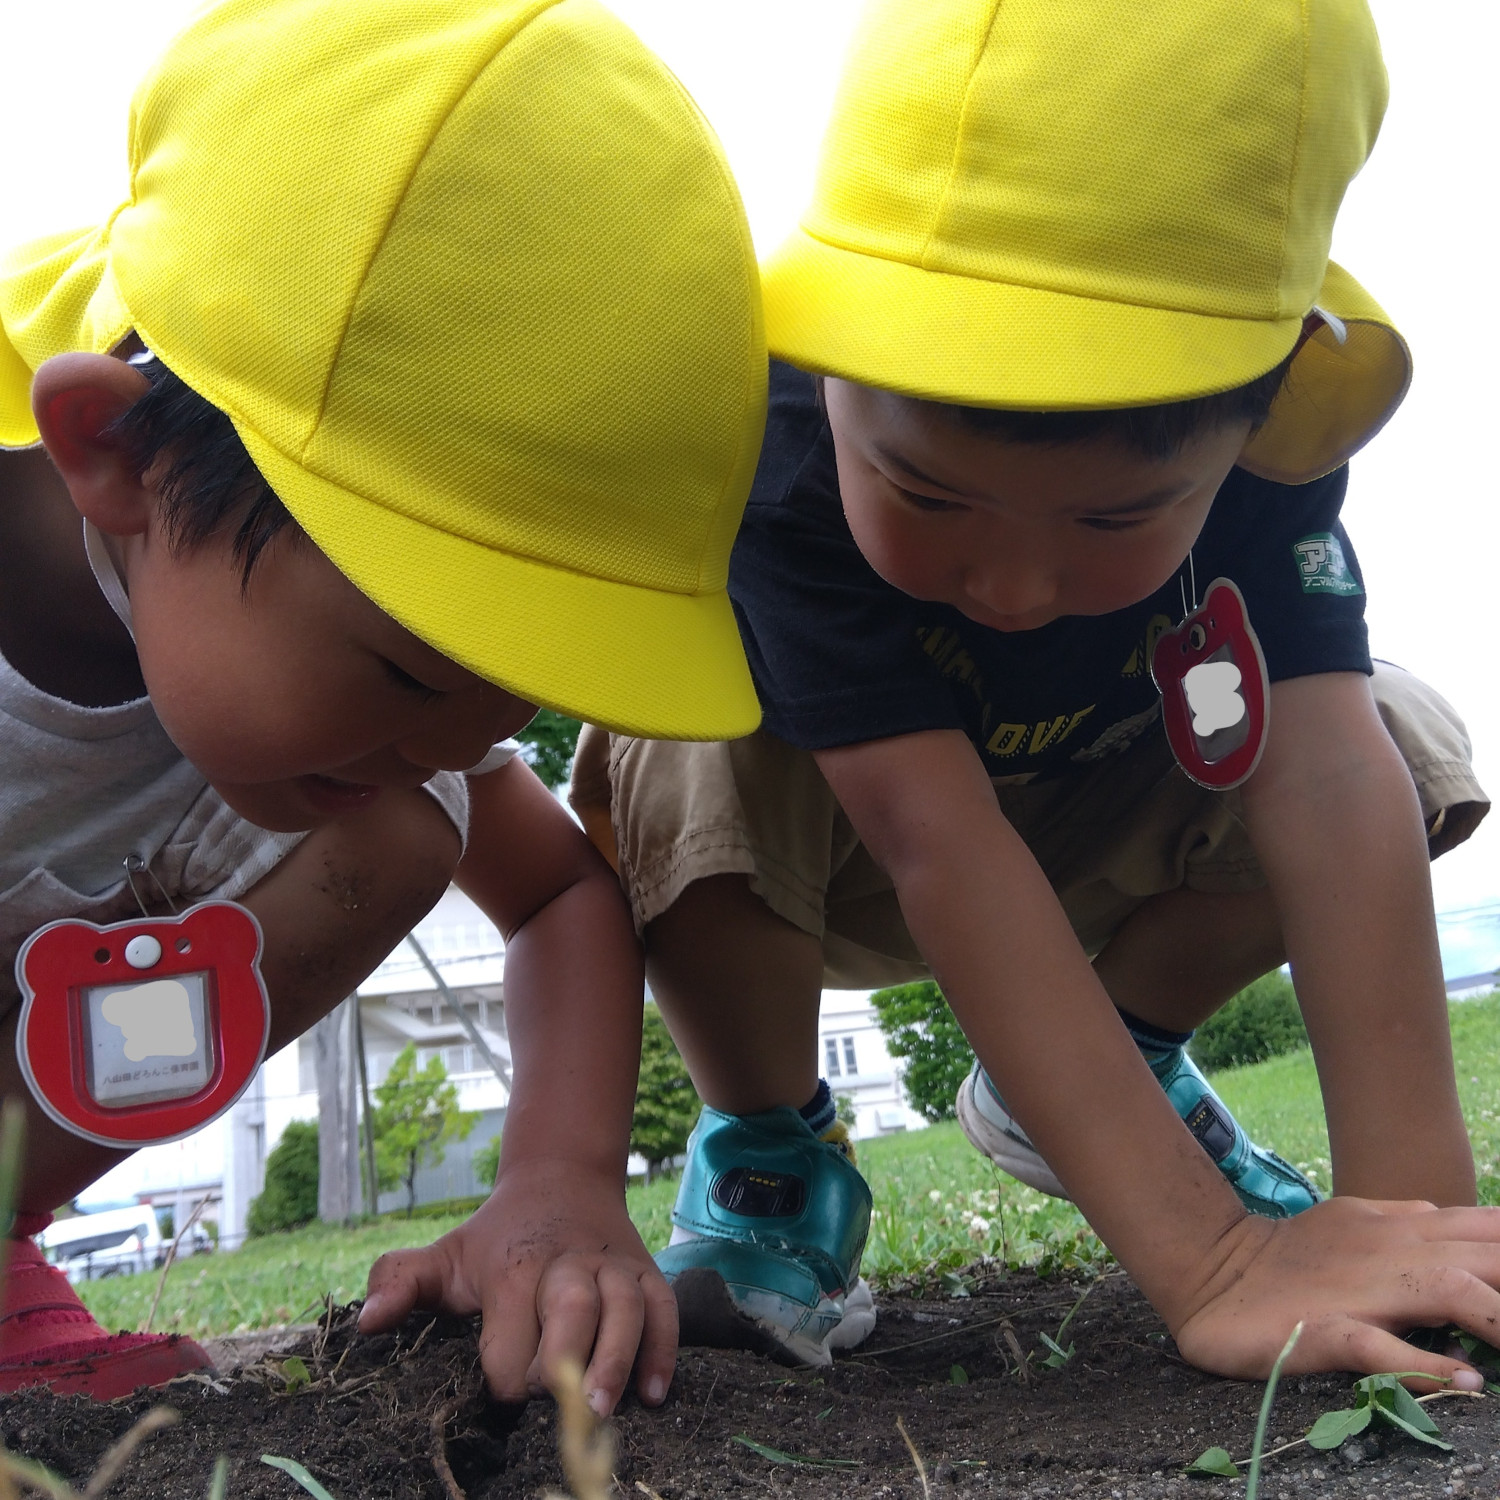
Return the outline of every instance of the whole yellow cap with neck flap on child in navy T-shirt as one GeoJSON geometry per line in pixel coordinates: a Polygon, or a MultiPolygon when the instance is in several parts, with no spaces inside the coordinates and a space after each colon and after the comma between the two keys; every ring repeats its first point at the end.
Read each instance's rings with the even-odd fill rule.
{"type": "Polygon", "coordinates": [[[1263,375],[1318,308],[1242,460],[1314,478],[1410,380],[1328,260],[1384,102],[1364,0],[876,0],[762,268],[771,352],[962,405],[1138,406],[1263,375]]]}

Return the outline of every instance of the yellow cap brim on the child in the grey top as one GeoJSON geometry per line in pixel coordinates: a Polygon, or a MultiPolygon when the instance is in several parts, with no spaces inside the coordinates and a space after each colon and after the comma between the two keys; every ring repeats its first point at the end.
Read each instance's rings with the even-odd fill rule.
{"type": "Polygon", "coordinates": [[[729,596],[572,573],[438,531],[238,429],[256,468],[386,614],[507,692],[618,734],[736,740],[760,723],[729,596]],[[414,590],[412,578],[441,579],[414,590]]]}

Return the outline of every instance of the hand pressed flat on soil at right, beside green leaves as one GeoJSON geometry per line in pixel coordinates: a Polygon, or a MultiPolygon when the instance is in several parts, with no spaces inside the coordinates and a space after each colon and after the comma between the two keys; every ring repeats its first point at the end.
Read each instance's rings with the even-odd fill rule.
{"type": "Polygon", "coordinates": [[[1400,1336],[1456,1323],[1500,1341],[1500,1209],[1437,1209],[1431,1203],[1330,1198],[1292,1220],[1246,1216],[1173,1334],[1200,1370],[1263,1378],[1292,1328],[1302,1338],[1288,1372],[1418,1371],[1482,1390],[1460,1359],[1426,1353],[1400,1336]]]}

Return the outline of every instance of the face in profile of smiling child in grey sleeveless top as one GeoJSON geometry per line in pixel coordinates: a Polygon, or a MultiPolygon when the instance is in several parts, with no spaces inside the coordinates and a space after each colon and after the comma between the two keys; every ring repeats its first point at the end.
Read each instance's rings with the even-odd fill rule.
{"type": "Polygon", "coordinates": [[[462,771],[536,712],[434,651],[306,538],[242,591],[228,540],[120,538],[141,675],[172,741],[243,818],[292,831],[462,771]]]}

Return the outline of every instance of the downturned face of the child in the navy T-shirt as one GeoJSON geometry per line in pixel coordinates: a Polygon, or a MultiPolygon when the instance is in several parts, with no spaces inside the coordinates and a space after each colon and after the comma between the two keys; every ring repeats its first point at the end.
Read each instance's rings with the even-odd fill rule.
{"type": "Polygon", "coordinates": [[[1182,566],[1250,423],[1170,459],[1113,441],[1047,447],[986,436],[888,392],[828,380],[844,514],[894,588],[992,630],[1106,615],[1182,566]]]}

